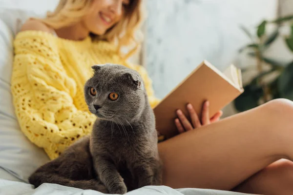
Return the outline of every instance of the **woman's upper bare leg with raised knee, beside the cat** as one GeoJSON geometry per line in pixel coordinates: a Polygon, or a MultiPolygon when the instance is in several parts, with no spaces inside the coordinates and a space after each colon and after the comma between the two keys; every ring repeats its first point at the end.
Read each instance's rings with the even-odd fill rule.
{"type": "Polygon", "coordinates": [[[159,144],[163,184],[231,190],[280,158],[293,159],[293,102],[255,109],[159,144]]]}

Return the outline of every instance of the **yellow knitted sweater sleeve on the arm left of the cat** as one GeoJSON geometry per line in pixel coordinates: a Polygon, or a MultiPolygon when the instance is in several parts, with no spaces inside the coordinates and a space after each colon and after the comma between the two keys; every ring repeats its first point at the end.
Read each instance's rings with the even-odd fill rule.
{"type": "Polygon", "coordinates": [[[20,33],[14,47],[11,91],[21,131],[54,159],[89,134],[96,117],[75,106],[76,82],[66,74],[54,39],[20,33]]]}

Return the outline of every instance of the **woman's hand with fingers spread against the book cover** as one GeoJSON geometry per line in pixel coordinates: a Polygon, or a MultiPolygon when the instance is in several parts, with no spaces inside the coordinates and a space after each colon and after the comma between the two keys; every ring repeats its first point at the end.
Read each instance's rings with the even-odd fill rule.
{"type": "Polygon", "coordinates": [[[179,133],[190,131],[192,129],[196,129],[198,127],[218,121],[220,117],[223,115],[222,111],[218,111],[213,117],[209,118],[209,101],[205,101],[203,105],[201,120],[198,118],[190,103],[187,105],[187,110],[189,112],[191,123],[188,121],[187,117],[182,113],[181,110],[177,110],[176,112],[178,118],[175,119],[175,125],[179,133]]]}

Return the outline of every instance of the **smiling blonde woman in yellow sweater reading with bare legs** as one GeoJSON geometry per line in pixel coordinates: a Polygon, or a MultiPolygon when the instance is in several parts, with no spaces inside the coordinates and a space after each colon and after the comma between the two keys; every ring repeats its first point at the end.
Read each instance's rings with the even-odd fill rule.
{"type": "MultiPolygon", "coordinates": [[[[45,19],[22,26],[14,44],[14,106],[22,132],[51,159],[91,131],[95,117],[86,112],[83,94],[91,65],[137,70],[151,106],[157,104],[146,70],[126,62],[139,44],[140,1],[61,0],[45,19]],[[128,55],[124,46],[132,48],[128,55]]],[[[221,111],[208,117],[208,101],[202,118],[192,105],[188,111],[191,121],[177,111],[181,134],[159,143],[163,185],[293,194],[292,101],[272,100],[220,121],[221,111]]]]}

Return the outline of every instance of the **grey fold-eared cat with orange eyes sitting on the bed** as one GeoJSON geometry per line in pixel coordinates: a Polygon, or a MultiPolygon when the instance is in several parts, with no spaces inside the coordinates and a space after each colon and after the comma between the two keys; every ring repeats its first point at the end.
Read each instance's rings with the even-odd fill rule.
{"type": "Polygon", "coordinates": [[[76,141],[40,167],[29,182],[57,183],[124,194],[161,184],[155,117],[140,75],[122,65],[92,66],[84,85],[89,111],[98,119],[91,136],[76,141]]]}

